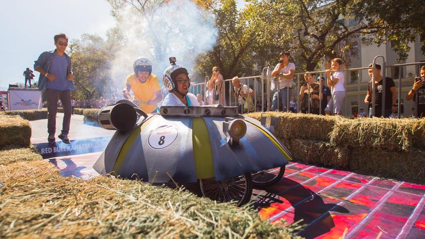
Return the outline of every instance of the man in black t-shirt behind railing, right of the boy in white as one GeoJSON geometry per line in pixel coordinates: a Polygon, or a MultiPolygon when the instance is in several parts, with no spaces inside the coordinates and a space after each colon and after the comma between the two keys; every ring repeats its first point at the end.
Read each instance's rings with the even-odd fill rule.
{"type": "MultiPolygon", "coordinates": [[[[372,64],[369,65],[372,67],[372,64]]],[[[397,111],[397,94],[395,92],[394,81],[390,77],[385,77],[385,89],[383,89],[383,77],[381,75],[381,66],[375,64],[375,69],[373,69],[373,74],[375,75],[375,117],[384,116],[385,118],[389,117],[391,113],[397,111]],[[385,112],[382,113],[382,93],[385,91],[385,112]]],[[[369,76],[372,77],[372,69],[369,69],[369,76]]],[[[370,80],[367,85],[367,95],[365,97],[365,103],[369,105],[369,108],[372,107],[372,80],[370,80]]]]}

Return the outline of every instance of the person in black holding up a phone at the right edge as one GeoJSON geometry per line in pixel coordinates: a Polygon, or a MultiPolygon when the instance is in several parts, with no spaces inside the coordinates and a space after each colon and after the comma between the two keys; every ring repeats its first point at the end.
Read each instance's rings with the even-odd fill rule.
{"type": "Polygon", "coordinates": [[[406,100],[415,101],[415,111],[418,118],[425,117],[425,65],[421,67],[421,76],[415,77],[412,89],[407,93],[406,100]]]}

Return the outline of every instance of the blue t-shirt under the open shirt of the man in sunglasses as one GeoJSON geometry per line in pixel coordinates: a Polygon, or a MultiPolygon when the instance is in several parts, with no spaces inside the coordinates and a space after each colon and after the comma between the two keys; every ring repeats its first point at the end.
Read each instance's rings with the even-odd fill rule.
{"type": "Polygon", "coordinates": [[[50,64],[49,74],[56,76],[55,80],[52,82],[47,81],[47,89],[54,90],[69,90],[69,83],[66,75],[68,69],[68,60],[65,55],[59,56],[56,52],[53,54],[52,63],[50,64]]]}

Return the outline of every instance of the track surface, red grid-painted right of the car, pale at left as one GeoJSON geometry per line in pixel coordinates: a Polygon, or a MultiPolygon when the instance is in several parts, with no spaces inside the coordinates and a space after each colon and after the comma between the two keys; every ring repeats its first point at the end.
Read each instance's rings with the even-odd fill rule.
{"type": "MultiPolygon", "coordinates": [[[[61,123],[60,118],[58,121],[61,123]]],[[[81,124],[79,120],[72,122],[81,124]]],[[[47,124],[46,120],[36,123],[47,124]]],[[[85,134],[91,137],[105,137],[112,132],[74,127],[91,132],[85,134]]],[[[46,141],[40,130],[33,132],[33,142],[46,141]]],[[[87,138],[70,132],[74,142],[80,137],[87,138]]],[[[45,160],[66,177],[90,179],[98,175],[92,166],[101,152],[70,153],[45,160]]],[[[259,216],[271,223],[302,220],[301,224],[307,226],[300,233],[306,238],[340,238],[345,232],[346,238],[375,239],[379,234],[391,239],[425,238],[425,185],[291,162],[280,182],[265,190],[254,189],[251,199],[259,216]]]]}

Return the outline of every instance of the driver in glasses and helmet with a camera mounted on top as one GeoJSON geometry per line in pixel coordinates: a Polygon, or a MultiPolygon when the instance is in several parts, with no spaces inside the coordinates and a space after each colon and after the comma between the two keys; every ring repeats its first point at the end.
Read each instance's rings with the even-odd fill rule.
{"type": "Polygon", "coordinates": [[[162,76],[162,84],[169,92],[162,106],[199,106],[196,96],[188,92],[191,79],[186,68],[176,65],[175,57],[170,57],[170,63],[162,76]]]}

